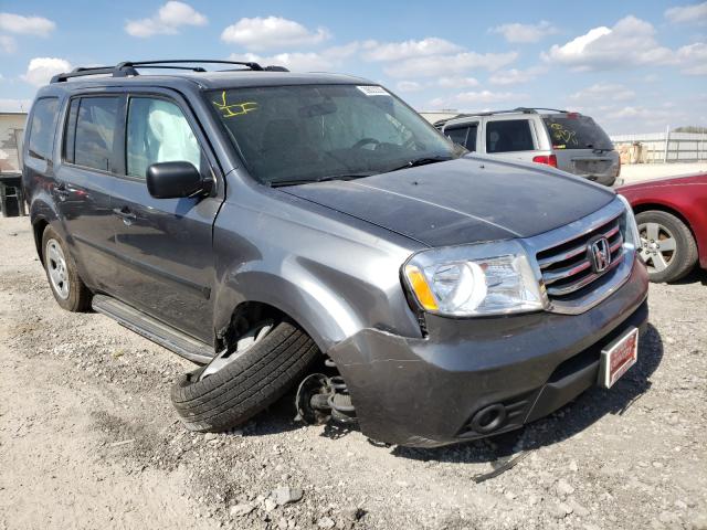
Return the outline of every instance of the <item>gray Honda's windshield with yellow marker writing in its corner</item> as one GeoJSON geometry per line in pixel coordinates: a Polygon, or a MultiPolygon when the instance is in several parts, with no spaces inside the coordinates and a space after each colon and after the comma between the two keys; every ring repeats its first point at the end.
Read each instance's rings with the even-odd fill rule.
{"type": "Polygon", "coordinates": [[[380,86],[249,87],[207,96],[251,174],[266,184],[366,177],[465,152],[380,86]]]}

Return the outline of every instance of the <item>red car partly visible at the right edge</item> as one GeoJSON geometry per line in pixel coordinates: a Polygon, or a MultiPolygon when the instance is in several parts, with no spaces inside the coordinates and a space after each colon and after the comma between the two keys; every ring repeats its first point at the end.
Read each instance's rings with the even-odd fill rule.
{"type": "Polygon", "coordinates": [[[675,282],[697,261],[707,269],[707,173],[622,186],[636,213],[652,282],[675,282]]]}

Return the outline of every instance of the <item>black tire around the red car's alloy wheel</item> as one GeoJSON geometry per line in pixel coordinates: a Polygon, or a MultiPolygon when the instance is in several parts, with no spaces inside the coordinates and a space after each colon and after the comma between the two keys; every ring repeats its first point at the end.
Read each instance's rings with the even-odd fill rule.
{"type": "Polygon", "coordinates": [[[676,240],[675,256],[662,272],[651,273],[651,282],[677,282],[686,276],[697,263],[697,244],[689,227],[672,213],[661,210],[648,210],[636,215],[636,224],[657,223],[674,234],[676,240]]]}

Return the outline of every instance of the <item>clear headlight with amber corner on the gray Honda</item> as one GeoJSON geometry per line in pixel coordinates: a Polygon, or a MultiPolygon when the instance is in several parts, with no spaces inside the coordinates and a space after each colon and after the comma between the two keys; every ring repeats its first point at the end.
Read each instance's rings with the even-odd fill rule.
{"type": "Polygon", "coordinates": [[[403,277],[420,306],[454,317],[537,311],[547,296],[515,241],[434,248],[414,254],[403,277]]]}

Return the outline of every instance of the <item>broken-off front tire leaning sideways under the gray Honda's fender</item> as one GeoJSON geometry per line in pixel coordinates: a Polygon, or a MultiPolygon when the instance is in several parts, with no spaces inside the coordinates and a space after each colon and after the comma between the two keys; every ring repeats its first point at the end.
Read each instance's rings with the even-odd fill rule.
{"type": "Polygon", "coordinates": [[[190,431],[219,432],[240,425],[277,401],[319,353],[307,333],[284,321],[217,373],[183,375],[171,399],[190,431]]]}

